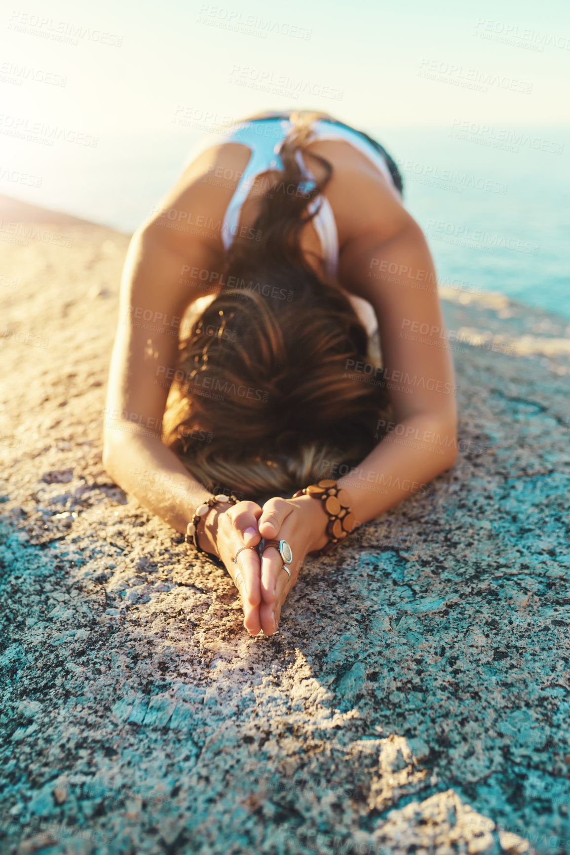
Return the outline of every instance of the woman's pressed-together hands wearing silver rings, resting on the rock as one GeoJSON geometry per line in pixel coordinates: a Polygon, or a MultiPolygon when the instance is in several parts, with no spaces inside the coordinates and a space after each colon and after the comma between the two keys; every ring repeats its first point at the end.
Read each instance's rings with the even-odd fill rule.
{"type": "Polygon", "coordinates": [[[250,635],[272,635],[279,627],[281,608],[294,587],[299,570],[308,552],[326,544],[327,516],[321,503],[309,496],[270,498],[261,508],[255,502],[238,502],[220,510],[216,505],[209,514],[200,534],[200,545],[223,561],[235,581],[244,607],[244,627],[250,635]],[[283,569],[279,550],[269,546],[259,556],[255,549],[265,540],[286,540],[291,546],[293,560],[283,569]],[[241,571],[241,573],[240,573],[241,571]]]}

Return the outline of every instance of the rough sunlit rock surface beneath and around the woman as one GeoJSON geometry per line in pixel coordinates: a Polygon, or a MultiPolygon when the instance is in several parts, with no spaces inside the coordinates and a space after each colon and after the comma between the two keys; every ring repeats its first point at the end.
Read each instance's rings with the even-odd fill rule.
{"type": "Polygon", "coordinates": [[[6,227],[0,852],[570,849],[567,321],[444,292],[455,468],[251,639],[103,471],[128,238],[6,227]]]}

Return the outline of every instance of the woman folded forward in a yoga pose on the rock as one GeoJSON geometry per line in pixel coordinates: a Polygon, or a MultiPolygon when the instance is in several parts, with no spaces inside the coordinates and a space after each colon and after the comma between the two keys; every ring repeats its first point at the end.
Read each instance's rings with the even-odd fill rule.
{"type": "Polygon", "coordinates": [[[378,143],[295,112],[202,148],[132,237],[103,459],[273,634],[307,554],[454,463],[453,371],[378,143]]]}

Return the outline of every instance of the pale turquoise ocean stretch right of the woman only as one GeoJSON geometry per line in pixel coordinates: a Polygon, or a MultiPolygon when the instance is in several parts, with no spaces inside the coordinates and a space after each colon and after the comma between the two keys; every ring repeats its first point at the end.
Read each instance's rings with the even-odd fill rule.
{"type": "Polygon", "coordinates": [[[382,137],[441,279],[570,318],[569,129],[465,123],[382,137]]]}

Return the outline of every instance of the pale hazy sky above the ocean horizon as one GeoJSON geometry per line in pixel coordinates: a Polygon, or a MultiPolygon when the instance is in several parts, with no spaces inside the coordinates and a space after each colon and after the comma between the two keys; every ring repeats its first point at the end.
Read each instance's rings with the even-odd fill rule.
{"type": "Polygon", "coordinates": [[[4,9],[0,170],[38,175],[43,189],[0,171],[0,193],[37,203],[53,202],[56,178],[70,185],[103,169],[120,139],[195,138],[207,116],[211,125],[310,108],[365,129],[569,119],[567,0],[25,0],[4,9]]]}

